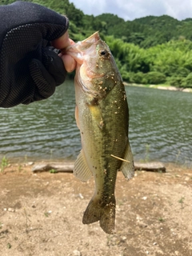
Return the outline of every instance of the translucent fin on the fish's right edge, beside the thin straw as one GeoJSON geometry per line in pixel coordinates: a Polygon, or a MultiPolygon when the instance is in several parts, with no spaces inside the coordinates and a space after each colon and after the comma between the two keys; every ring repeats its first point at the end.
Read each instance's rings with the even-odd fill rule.
{"type": "Polygon", "coordinates": [[[122,173],[125,176],[125,178],[127,179],[133,178],[134,177],[134,158],[130,149],[129,142],[127,142],[127,145],[126,145],[126,152],[125,152],[124,159],[127,162],[126,161],[122,162],[122,166],[120,170],[122,170],[122,173]]]}

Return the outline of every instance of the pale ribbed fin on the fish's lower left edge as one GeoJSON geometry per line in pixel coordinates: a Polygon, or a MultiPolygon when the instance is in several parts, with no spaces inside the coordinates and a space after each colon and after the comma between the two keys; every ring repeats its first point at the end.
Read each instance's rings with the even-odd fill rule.
{"type": "Polygon", "coordinates": [[[82,150],[78,155],[77,160],[74,162],[74,175],[82,182],[86,182],[92,176],[82,150]]]}

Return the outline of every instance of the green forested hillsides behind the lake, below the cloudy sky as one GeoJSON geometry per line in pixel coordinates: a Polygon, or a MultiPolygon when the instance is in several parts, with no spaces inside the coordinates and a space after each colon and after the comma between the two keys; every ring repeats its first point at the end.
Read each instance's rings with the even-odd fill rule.
{"type": "MultiPolygon", "coordinates": [[[[0,0],[1,5],[15,2],[0,0]]],[[[114,14],[83,14],[69,0],[28,0],[70,19],[74,42],[99,30],[130,83],[192,87],[192,18],[178,21],[168,15],[125,21],[114,14]]]]}

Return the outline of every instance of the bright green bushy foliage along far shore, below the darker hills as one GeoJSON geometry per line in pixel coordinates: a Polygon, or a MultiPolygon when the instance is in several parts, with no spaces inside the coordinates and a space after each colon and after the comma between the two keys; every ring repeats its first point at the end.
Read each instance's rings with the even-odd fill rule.
{"type": "Polygon", "coordinates": [[[143,84],[168,83],[170,86],[190,86],[192,72],[192,42],[170,41],[146,50],[121,39],[106,37],[122,78],[143,84]]]}

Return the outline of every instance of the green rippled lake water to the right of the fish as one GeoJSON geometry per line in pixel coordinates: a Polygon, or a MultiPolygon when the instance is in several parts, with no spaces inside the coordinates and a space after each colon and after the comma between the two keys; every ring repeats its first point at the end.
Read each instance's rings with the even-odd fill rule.
{"type": "Polygon", "coordinates": [[[192,94],[128,87],[135,158],[192,163],[192,94]]]}

